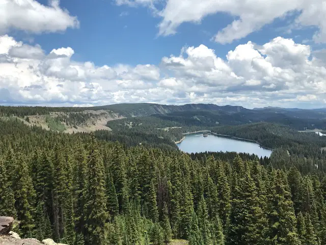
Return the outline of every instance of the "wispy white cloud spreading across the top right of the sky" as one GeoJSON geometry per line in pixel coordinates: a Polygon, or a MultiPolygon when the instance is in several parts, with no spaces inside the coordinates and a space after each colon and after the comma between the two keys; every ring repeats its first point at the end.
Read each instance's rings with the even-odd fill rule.
{"type": "Polygon", "coordinates": [[[162,1],[154,0],[116,0],[118,5],[150,6],[162,18],[158,24],[159,35],[168,36],[177,32],[184,22],[200,23],[200,21],[215,13],[228,13],[234,20],[222,30],[216,30],[213,40],[219,43],[231,43],[233,40],[246,37],[252,32],[260,30],[266,24],[277,18],[296,14],[293,28],[317,27],[313,35],[315,42],[326,42],[326,4],[324,0],[252,0],[252,1],[216,1],[216,0],[187,0],[180,4],[180,0],[166,0],[165,7],[159,11],[155,4],[162,1]]]}

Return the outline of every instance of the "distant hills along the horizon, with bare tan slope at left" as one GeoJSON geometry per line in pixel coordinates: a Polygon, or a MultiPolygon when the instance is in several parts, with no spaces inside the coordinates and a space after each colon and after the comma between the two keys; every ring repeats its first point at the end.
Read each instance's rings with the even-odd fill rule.
{"type": "Polygon", "coordinates": [[[275,107],[246,109],[239,106],[188,104],[116,104],[99,107],[0,107],[3,118],[17,117],[30,126],[59,132],[91,132],[110,130],[107,121],[156,117],[184,127],[242,125],[252,122],[273,122],[296,130],[326,129],[326,111],[284,109],[275,107]]]}

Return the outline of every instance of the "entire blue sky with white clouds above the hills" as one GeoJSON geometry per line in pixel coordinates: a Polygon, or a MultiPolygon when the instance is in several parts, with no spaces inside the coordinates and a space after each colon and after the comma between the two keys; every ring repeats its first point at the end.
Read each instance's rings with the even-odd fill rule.
{"type": "Polygon", "coordinates": [[[326,107],[324,0],[0,0],[0,104],[326,107]]]}

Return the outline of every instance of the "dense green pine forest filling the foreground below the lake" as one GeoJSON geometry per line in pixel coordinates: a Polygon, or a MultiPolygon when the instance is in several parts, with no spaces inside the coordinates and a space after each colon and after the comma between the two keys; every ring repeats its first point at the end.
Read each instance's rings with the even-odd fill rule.
{"type": "MultiPolygon", "coordinates": [[[[270,159],[188,155],[96,134],[0,120],[0,215],[19,220],[22,237],[93,245],[326,244],[319,149],[304,157],[285,142],[270,159]]],[[[312,150],[310,143],[296,146],[312,150]]]]}

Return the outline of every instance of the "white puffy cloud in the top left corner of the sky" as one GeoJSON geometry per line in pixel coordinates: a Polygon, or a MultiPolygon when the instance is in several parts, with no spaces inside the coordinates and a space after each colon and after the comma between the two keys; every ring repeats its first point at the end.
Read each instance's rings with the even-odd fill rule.
{"type": "Polygon", "coordinates": [[[77,17],[60,8],[59,0],[49,1],[49,6],[36,0],[1,0],[0,34],[9,29],[31,33],[58,32],[78,28],[77,17]]]}

